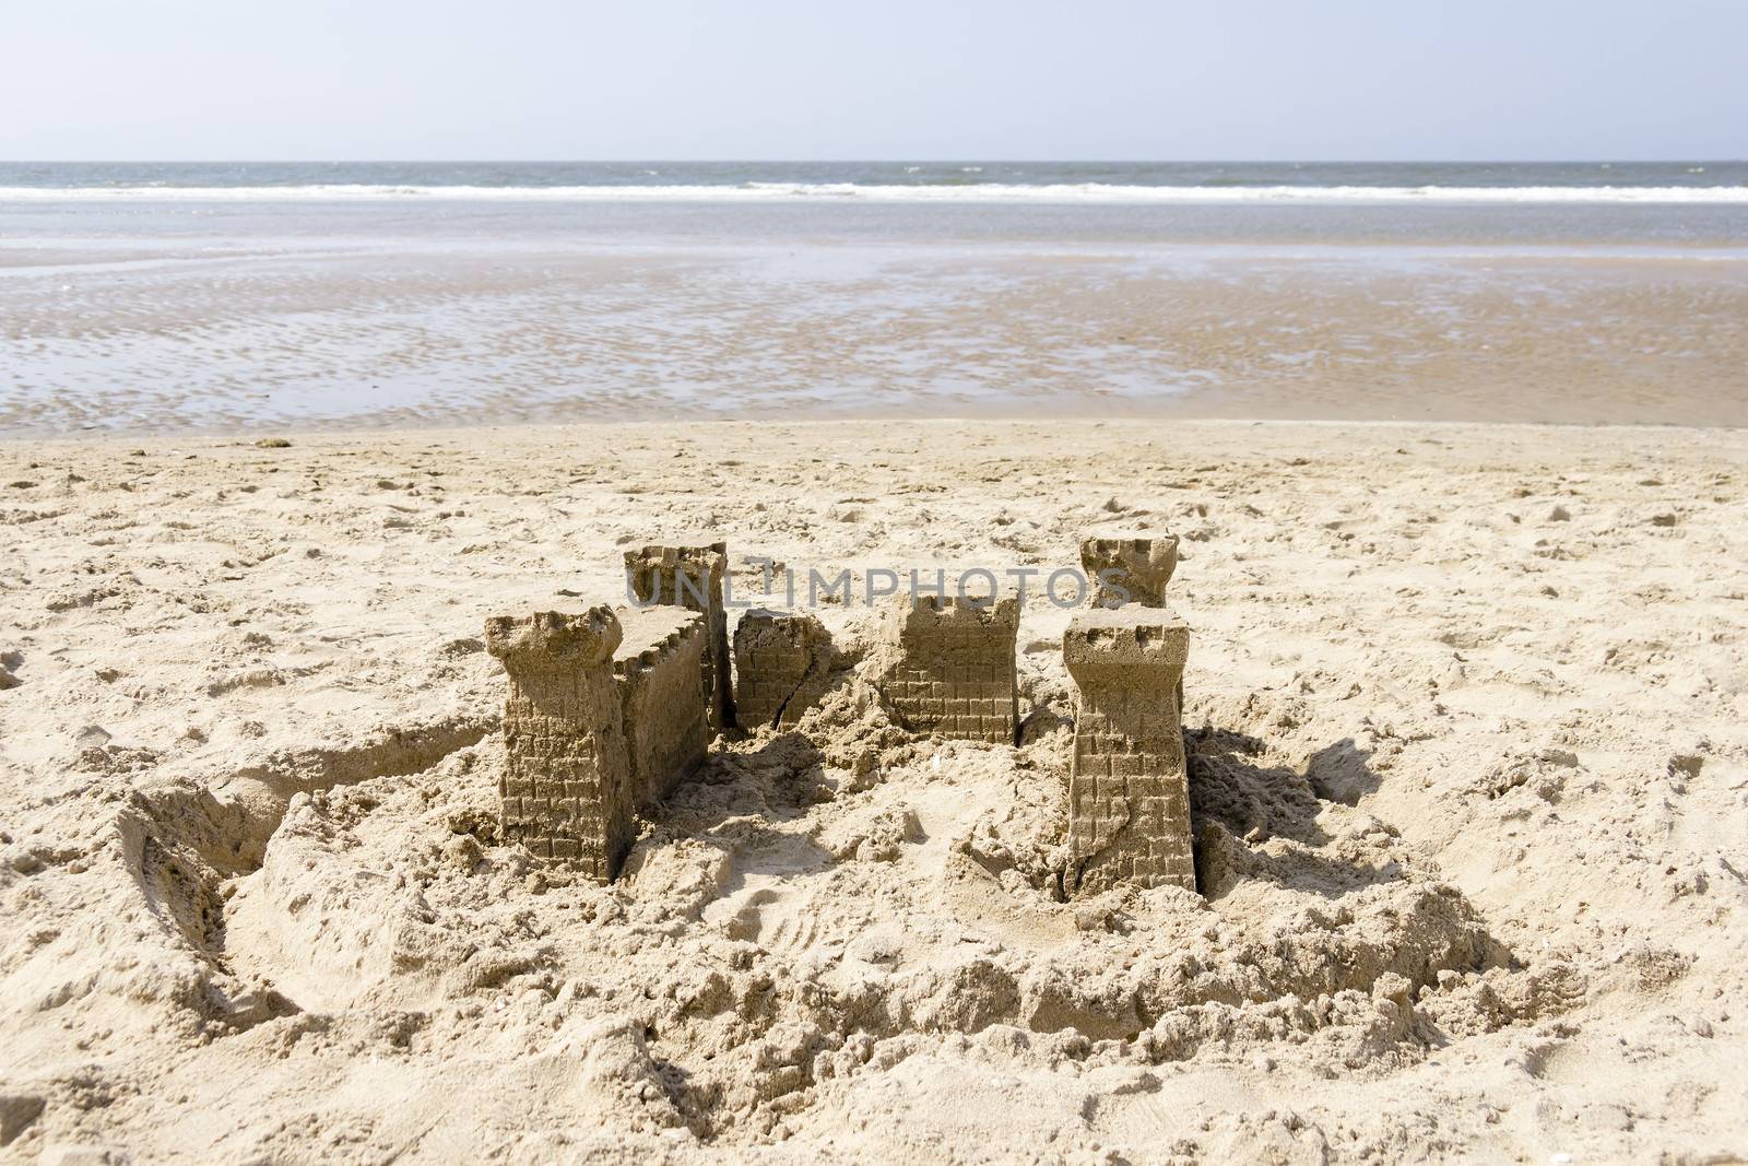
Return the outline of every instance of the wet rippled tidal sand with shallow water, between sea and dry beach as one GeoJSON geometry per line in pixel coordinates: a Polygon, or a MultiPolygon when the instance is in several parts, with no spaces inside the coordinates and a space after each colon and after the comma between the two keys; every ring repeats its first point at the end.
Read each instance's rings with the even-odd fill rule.
{"type": "Polygon", "coordinates": [[[1748,423],[1734,246],[264,231],[0,248],[0,432],[1748,423]]]}

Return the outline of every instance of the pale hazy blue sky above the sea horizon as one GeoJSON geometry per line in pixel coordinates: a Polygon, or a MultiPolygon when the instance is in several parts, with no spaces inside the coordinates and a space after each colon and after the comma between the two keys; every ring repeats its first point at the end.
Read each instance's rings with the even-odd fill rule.
{"type": "Polygon", "coordinates": [[[1748,0],[0,0],[5,159],[1748,156],[1748,0]]]}

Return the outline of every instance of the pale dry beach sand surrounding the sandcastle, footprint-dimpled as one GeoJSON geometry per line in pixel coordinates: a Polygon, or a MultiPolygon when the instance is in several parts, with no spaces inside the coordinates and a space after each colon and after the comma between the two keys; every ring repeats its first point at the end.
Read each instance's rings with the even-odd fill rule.
{"type": "Polygon", "coordinates": [[[0,446],[0,1159],[1748,1156],[1748,435],[292,437],[0,446]],[[1021,748],[851,668],[621,883],[502,846],[484,617],[697,528],[832,572],[1182,535],[1206,902],[1058,900],[1047,605],[1021,748]]]}

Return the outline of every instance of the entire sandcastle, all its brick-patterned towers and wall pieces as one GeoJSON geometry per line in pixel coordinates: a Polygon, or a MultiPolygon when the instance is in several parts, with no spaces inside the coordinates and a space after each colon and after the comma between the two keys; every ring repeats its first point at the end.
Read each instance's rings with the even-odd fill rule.
{"type": "MultiPolygon", "coordinates": [[[[1070,621],[1063,663],[1079,691],[1068,783],[1065,886],[1196,890],[1183,664],[1189,628],[1164,607],[1178,540],[1087,538],[1094,607],[1070,621]]],[[[825,626],[746,612],[727,656],[722,542],[647,545],[626,577],[649,607],[538,612],[486,622],[510,677],[503,834],[607,883],[649,813],[703,764],[715,731],[792,725],[837,663],[825,626]],[[736,703],[732,689],[738,689],[736,703]]],[[[907,593],[871,663],[911,732],[1012,745],[1019,600],[907,593]]]]}

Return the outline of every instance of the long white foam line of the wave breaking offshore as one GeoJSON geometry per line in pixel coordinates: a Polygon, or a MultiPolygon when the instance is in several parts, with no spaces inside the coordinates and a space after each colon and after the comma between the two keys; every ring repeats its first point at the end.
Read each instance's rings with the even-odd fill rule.
{"type": "Polygon", "coordinates": [[[1717,187],[1147,187],[1098,182],[1061,185],[862,185],[853,182],[746,182],[741,185],[271,185],[271,187],[0,187],[0,203],[63,201],[545,201],[545,203],[1748,203],[1748,185],[1717,187]]]}

